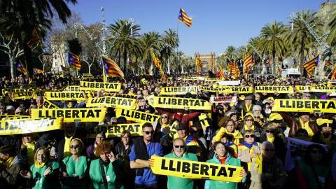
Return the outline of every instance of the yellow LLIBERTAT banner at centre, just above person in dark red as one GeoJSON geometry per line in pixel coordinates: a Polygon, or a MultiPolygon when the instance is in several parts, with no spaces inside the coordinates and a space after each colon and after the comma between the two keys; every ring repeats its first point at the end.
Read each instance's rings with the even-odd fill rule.
{"type": "Polygon", "coordinates": [[[151,104],[155,108],[211,110],[211,104],[202,99],[184,99],[173,97],[153,97],[151,104]]]}

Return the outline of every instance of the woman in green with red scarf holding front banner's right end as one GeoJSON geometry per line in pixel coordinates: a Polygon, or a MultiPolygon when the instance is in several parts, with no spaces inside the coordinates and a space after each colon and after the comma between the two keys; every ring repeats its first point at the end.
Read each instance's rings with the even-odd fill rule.
{"type": "MultiPolygon", "coordinates": [[[[224,164],[224,165],[233,165],[233,166],[241,166],[240,160],[233,158],[230,153],[225,150],[225,144],[222,141],[217,141],[214,143],[214,158],[211,160],[207,160],[209,163],[216,163],[216,164],[224,164]]],[[[241,176],[243,180],[241,181],[244,183],[246,181],[247,173],[245,169],[242,170],[241,176]]],[[[237,189],[237,183],[233,182],[223,182],[223,181],[213,181],[207,180],[205,181],[204,189],[216,189],[216,188],[228,188],[228,189],[237,189]]]]}

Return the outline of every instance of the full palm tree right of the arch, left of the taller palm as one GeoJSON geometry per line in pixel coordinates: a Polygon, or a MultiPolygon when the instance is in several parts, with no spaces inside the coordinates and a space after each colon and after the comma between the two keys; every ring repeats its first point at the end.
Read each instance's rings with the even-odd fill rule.
{"type": "Polygon", "coordinates": [[[261,29],[261,39],[258,47],[262,52],[269,52],[272,55],[273,73],[275,73],[275,56],[283,55],[287,45],[283,40],[285,26],[282,22],[274,21],[261,29]]]}

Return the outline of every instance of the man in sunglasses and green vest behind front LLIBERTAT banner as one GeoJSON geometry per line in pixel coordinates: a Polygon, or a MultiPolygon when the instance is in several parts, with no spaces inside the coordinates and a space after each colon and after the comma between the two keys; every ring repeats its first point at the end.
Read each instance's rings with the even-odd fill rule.
{"type": "MultiPolygon", "coordinates": [[[[165,158],[190,160],[197,162],[197,156],[193,153],[187,153],[186,142],[181,138],[174,139],[173,151],[165,155],[165,158]]],[[[168,189],[170,188],[194,188],[194,182],[190,179],[180,178],[176,176],[168,176],[168,189]]]]}

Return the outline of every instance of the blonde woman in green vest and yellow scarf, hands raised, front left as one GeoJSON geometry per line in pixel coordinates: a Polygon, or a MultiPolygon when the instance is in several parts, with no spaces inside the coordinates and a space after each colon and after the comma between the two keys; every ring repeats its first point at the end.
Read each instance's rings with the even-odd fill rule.
{"type": "Polygon", "coordinates": [[[58,189],[62,188],[59,184],[59,164],[50,160],[50,153],[47,148],[38,148],[34,155],[34,165],[31,165],[30,171],[22,170],[20,175],[26,179],[27,187],[34,189],[58,189]]]}

